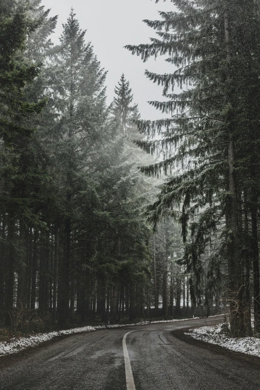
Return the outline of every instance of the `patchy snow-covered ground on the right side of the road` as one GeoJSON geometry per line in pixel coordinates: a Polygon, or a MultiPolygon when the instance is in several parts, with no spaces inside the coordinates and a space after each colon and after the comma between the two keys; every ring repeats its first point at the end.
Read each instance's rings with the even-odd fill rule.
{"type": "Polygon", "coordinates": [[[260,357],[260,339],[255,337],[231,338],[222,333],[222,325],[203,326],[198,329],[189,329],[186,335],[194,339],[216,344],[231,351],[260,357]]]}

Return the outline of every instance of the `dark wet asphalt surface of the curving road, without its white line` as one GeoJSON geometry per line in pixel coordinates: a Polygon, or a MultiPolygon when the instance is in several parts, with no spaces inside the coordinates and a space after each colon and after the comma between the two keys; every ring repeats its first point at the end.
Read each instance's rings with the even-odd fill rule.
{"type": "Polygon", "coordinates": [[[127,336],[136,390],[259,390],[259,358],[183,334],[203,325],[205,319],[105,329],[43,343],[0,358],[0,390],[127,390],[122,340],[137,329],[127,336]]]}

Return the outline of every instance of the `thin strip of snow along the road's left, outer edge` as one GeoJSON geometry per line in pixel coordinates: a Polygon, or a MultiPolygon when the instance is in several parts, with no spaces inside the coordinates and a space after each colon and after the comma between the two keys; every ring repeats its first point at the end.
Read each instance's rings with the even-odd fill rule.
{"type": "MultiPolygon", "coordinates": [[[[212,317],[217,317],[217,316],[212,316],[212,317]]],[[[198,319],[198,318],[199,317],[195,317],[194,319],[198,319]]],[[[142,321],[142,322],[137,322],[135,324],[125,324],[125,325],[83,326],[81,328],[60,330],[60,331],[50,332],[50,333],[38,333],[27,337],[15,337],[13,339],[10,339],[9,341],[0,343],[0,357],[22,351],[28,347],[35,347],[36,345],[39,345],[44,341],[49,341],[54,337],[59,337],[63,335],[92,332],[95,330],[107,329],[107,328],[111,329],[111,328],[121,328],[121,327],[136,326],[136,325],[163,324],[166,322],[177,322],[177,321],[188,321],[188,320],[190,320],[190,318],[186,318],[184,320],[142,321]]]]}

